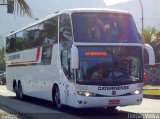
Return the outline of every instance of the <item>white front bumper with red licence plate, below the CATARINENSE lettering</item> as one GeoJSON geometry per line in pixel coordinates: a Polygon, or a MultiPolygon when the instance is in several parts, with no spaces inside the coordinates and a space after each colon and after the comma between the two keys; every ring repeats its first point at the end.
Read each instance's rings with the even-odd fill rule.
{"type": "Polygon", "coordinates": [[[85,97],[77,95],[76,105],[71,104],[76,108],[96,108],[96,107],[111,107],[111,106],[127,106],[139,105],[142,102],[143,94],[130,95],[130,96],[116,96],[116,97],[85,97]],[[117,101],[118,103],[110,103],[117,101]]]}

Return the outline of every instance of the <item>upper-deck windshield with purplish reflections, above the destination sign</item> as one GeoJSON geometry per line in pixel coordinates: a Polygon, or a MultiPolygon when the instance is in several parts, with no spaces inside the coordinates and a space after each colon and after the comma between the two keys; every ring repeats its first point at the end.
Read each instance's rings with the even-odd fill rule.
{"type": "Polygon", "coordinates": [[[75,42],[140,43],[133,18],[118,13],[73,13],[75,42]]]}

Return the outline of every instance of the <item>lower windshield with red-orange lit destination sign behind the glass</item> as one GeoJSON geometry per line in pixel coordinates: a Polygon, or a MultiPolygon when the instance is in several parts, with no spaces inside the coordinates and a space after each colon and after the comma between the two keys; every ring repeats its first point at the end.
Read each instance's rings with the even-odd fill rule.
{"type": "Polygon", "coordinates": [[[79,47],[77,83],[117,85],[142,81],[140,47],[79,47]],[[133,50],[134,49],[134,50],[133,50]]]}

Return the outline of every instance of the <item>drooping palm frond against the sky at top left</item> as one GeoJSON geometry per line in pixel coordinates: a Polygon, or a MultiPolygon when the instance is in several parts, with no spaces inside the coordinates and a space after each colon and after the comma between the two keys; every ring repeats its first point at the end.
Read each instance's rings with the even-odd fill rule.
{"type": "MultiPolygon", "coordinates": [[[[7,0],[0,1],[6,3],[7,0]]],[[[14,10],[16,11],[17,15],[27,15],[32,18],[32,11],[29,5],[25,2],[25,0],[14,0],[14,10]]]]}

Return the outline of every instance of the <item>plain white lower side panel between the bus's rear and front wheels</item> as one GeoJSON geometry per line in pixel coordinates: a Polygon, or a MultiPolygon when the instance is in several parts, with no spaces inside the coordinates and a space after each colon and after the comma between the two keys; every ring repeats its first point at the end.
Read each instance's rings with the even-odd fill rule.
{"type": "Polygon", "coordinates": [[[60,81],[58,53],[58,45],[54,45],[49,65],[37,63],[7,67],[7,88],[13,91],[13,80],[20,80],[24,94],[51,101],[53,84],[60,81]]]}

